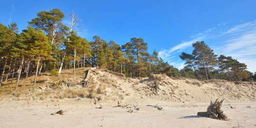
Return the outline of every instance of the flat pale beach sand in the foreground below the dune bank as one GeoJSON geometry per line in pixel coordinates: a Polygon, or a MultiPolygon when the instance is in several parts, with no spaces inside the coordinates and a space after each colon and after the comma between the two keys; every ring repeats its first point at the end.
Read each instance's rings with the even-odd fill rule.
{"type": "Polygon", "coordinates": [[[147,104],[160,101],[142,102],[140,111],[128,113],[126,108],[118,108],[114,103],[89,103],[89,100],[64,99],[57,101],[9,101],[0,102],[0,128],[254,128],[256,127],[256,103],[227,102],[222,110],[231,121],[221,121],[196,116],[205,111],[207,103],[163,102],[167,106],[158,111],[147,104]],[[68,110],[64,116],[50,115],[60,108],[68,110]],[[55,106],[57,105],[57,106],[55,106]],[[247,108],[250,105],[251,108],[247,108]],[[191,107],[192,106],[192,107],[191,107]],[[194,107],[193,107],[194,106],[194,107]]]}

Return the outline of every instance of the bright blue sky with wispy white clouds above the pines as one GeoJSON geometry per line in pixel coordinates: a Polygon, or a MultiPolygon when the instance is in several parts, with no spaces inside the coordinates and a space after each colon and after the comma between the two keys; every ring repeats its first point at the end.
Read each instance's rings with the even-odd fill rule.
{"type": "Polygon", "coordinates": [[[232,56],[256,72],[256,0],[3,0],[0,23],[16,22],[21,32],[40,11],[58,8],[70,26],[73,10],[88,41],[98,35],[125,44],[143,38],[148,52],[181,69],[181,52],[204,41],[218,55],[232,56]]]}

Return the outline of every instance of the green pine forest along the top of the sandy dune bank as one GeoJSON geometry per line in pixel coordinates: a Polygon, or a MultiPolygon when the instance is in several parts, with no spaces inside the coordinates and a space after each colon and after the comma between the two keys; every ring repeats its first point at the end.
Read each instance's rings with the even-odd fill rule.
{"type": "Polygon", "coordinates": [[[79,36],[83,30],[78,15],[71,12],[68,16],[70,26],[63,23],[65,14],[60,9],[38,12],[21,32],[17,23],[0,23],[0,86],[3,81],[13,83],[13,79],[17,79],[16,88],[26,85],[29,75],[35,76],[35,85],[38,74],[62,70],[75,73],[76,68],[84,67],[99,67],[127,77],[166,74],[204,80],[256,80],[256,72],[247,71],[246,64],[231,56],[216,55],[204,41],[193,43],[191,53],[180,54],[186,66],[178,70],[164,62],[156,50],[148,53],[148,43],[143,38],[133,37],[120,46],[95,35],[94,41],[89,42],[79,36]],[[21,74],[26,76],[24,83],[19,83],[21,74]]]}

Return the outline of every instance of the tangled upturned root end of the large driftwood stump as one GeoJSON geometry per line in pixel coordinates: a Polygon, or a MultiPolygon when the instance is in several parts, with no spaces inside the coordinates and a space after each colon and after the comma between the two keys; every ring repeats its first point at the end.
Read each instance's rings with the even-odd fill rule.
{"type": "Polygon", "coordinates": [[[221,111],[221,105],[224,99],[221,101],[218,101],[218,99],[215,100],[215,102],[210,103],[209,107],[207,108],[207,117],[212,119],[221,119],[221,120],[227,120],[228,117],[226,114],[221,111]]]}

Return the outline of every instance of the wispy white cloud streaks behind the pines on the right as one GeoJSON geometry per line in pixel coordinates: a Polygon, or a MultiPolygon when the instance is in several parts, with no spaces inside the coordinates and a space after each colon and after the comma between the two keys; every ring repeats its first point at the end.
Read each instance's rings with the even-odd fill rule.
{"type": "Polygon", "coordinates": [[[207,29],[191,36],[190,38],[192,39],[190,41],[182,42],[170,49],[161,49],[159,57],[174,67],[181,69],[185,64],[178,57],[180,52],[186,51],[186,48],[196,41],[207,40],[209,42],[216,42],[215,44],[208,44],[209,47],[214,49],[216,54],[232,56],[238,59],[238,61],[247,64],[250,72],[255,72],[256,20],[235,26],[225,26],[226,24],[225,22],[219,23],[218,29],[215,27],[207,29]]]}

